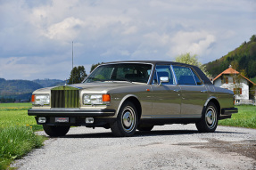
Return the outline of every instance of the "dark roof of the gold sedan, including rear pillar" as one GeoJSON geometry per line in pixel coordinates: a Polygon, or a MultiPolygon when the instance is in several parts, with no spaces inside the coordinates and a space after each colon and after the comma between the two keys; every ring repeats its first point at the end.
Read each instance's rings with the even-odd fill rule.
{"type": "Polygon", "coordinates": [[[169,65],[186,66],[186,67],[193,68],[197,72],[197,74],[201,77],[204,84],[212,85],[211,80],[208,77],[206,77],[206,75],[202,72],[201,69],[199,69],[197,66],[194,66],[194,65],[189,65],[189,64],[174,62],[174,61],[112,61],[112,62],[104,62],[103,64],[118,64],[118,63],[144,63],[144,64],[153,64],[153,65],[169,64],[169,65]]]}

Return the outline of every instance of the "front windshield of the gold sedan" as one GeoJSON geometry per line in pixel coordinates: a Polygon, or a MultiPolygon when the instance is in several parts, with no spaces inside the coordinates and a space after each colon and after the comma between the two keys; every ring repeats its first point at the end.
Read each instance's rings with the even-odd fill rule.
{"type": "Polygon", "coordinates": [[[99,66],[84,83],[95,81],[128,81],[147,83],[152,70],[151,64],[121,63],[99,66]]]}

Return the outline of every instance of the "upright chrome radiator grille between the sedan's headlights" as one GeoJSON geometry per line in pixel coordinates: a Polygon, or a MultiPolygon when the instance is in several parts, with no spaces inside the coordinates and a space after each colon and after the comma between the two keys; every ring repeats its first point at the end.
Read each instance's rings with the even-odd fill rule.
{"type": "Polygon", "coordinates": [[[79,108],[79,90],[52,90],[52,108],[79,108]]]}

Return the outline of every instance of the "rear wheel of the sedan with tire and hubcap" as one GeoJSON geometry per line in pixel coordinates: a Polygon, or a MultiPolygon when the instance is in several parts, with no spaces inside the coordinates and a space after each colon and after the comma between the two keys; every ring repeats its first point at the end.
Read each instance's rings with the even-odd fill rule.
{"type": "Polygon", "coordinates": [[[202,119],[195,123],[200,133],[214,133],[219,120],[218,109],[213,102],[209,102],[202,111],[202,119]]]}

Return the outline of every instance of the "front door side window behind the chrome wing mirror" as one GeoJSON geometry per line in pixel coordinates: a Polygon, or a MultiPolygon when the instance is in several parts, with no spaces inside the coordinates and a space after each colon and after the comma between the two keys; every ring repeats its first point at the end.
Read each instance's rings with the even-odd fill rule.
{"type": "Polygon", "coordinates": [[[173,74],[169,65],[157,65],[155,67],[154,82],[160,84],[160,77],[169,77],[169,82],[162,83],[163,85],[174,85],[173,74]]]}

